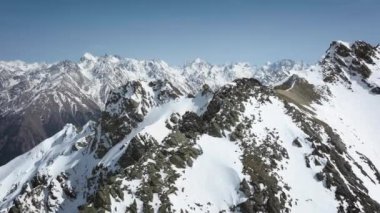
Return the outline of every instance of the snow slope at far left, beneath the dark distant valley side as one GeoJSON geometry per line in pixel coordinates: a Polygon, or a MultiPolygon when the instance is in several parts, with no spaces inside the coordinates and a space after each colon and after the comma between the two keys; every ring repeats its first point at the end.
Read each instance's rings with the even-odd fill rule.
{"type": "MultiPolygon", "coordinates": [[[[9,201],[20,192],[22,188],[20,186],[37,173],[56,177],[62,172],[68,172],[72,175],[73,183],[71,184],[74,186],[86,185],[85,177],[95,166],[95,160],[91,155],[86,155],[83,150],[74,152],[72,149],[74,143],[85,140],[86,136],[93,134],[91,129],[93,124],[93,122],[89,122],[81,132],[78,132],[73,125],[67,124],[60,132],[46,139],[31,151],[0,167],[0,208],[10,205],[9,201]],[[17,190],[9,193],[15,185],[18,186],[17,190]]],[[[81,191],[78,192],[81,193],[81,191]]],[[[83,201],[79,198],[74,203],[80,205],[83,201]]],[[[76,211],[75,205],[62,206],[62,208],[67,211],[76,211]]],[[[0,210],[0,212],[2,211],[0,210]]]]}

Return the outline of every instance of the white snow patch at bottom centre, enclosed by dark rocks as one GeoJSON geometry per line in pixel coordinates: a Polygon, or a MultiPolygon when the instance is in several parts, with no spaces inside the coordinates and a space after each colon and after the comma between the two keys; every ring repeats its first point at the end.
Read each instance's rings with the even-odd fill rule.
{"type": "Polygon", "coordinates": [[[244,178],[241,150],[226,138],[208,135],[202,136],[198,144],[203,154],[175,183],[179,190],[169,196],[173,208],[193,207],[195,212],[229,211],[230,206],[246,199],[239,190],[244,178]]]}

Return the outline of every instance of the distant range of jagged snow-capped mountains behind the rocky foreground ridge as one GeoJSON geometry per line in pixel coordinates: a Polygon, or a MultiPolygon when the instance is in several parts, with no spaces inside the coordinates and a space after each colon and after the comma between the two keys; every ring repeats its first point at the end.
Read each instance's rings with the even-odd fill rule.
{"type": "Polygon", "coordinates": [[[160,60],[89,53],[78,62],[0,62],[0,165],[66,123],[82,126],[97,120],[110,91],[131,80],[167,80],[181,92],[194,93],[205,83],[215,89],[253,73],[255,68],[244,63],[211,65],[196,59],[171,67],[160,60]]]}

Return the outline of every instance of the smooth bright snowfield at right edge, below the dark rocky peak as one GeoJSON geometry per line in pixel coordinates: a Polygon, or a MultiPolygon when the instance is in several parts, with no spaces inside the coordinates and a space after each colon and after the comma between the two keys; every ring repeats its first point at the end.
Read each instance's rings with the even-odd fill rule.
{"type": "MultiPolygon", "coordinates": [[[[339,133],[349,154],[357,162],[364,162],[356,153],[360,152],[380,168],[380,98],[369,94],[368,90],[355,81],[352,89],[349,91],[342,86],[331,87],[334,97],[324,106],[315,106],[317,116],[339,133]]],[[[368,165],[362,165],[367,174],[376,180],[368,165]]],[[[357,169],[355,166],[353,168],[357,169]]],[[[364,181],[369,195],[380,202],[380,185],[364,177],[359,170],[355,170],[355,174],[364,181]]]]}

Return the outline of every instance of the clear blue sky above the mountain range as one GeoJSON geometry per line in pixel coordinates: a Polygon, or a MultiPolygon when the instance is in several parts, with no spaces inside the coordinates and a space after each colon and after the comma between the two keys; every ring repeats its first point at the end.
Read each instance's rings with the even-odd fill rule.
{"type": "Polygon", "coordinates": [[[332,40],[380,42],[379,0],[1,0],[0,60],[85,52],[180,65],[315,62],[332,40]]]}

